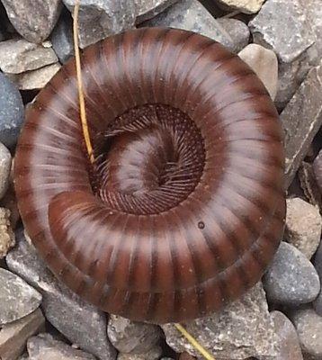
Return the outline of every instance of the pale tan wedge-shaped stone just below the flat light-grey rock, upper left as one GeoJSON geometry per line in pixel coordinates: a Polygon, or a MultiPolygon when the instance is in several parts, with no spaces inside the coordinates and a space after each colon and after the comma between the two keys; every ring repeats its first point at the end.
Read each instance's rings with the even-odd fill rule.
{"type": "Polygon", "coordinates": [[[44,87],[60,67],[60,64],[56,63],[22,74],[7,74],[7,76],[20,90],[36,90],[44,87]]]}

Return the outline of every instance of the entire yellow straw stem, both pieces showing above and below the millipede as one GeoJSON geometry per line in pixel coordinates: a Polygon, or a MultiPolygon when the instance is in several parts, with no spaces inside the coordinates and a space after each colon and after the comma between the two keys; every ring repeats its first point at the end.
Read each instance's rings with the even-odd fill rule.
{"type": "MultiPolygon", "coordinates": [[[[74,48],[75,48],[75,58],[76,58],[76,75],[77,75],[77,87],[78,87],[78,98],[79,98],[79,112],[80,118],[82,122],[82,129],[85,139],[85,145],[87,149],[88,156],[90,158],[91,163],[94,163],[94,152],[91,143],[91,138],[88,130],[88,124],[86,119],[86,111],[85,111],[85,100],[84,100],[84,91],[83,91],[83,81],[82,81],[82,70],[81,70],[81,62],[79,55],[79,47],[78,47],[78,13],[79,13],[79,0],[76,1],[74,7],[74,22],[73,22],[73,33],[74,33],[74,48]]],[[[180,324],[174,324],[174,327],[180,331],[184,338],[186,338],[197,351],[201,353],[201,355],[206,360],[216,360],[210,353],[198,343],[198,341],[192,337],[188,333],[186,329],[183,328],[180,324]]]]}

